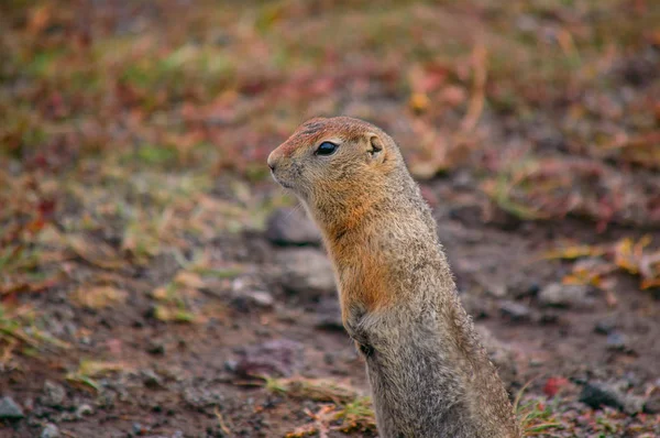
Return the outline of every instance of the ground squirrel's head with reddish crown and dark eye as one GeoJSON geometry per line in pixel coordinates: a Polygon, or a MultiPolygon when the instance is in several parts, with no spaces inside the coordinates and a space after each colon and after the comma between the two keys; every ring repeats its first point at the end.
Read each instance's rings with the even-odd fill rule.
{"type": "Polygon", "coordinates": [[[396,184],[391,175],[400,162],[389,135],[349,117],[308,120],[268,156],[277,183],[290,189],[312,213],[322,210],[333,215],[385,196],[381,188],[391,180],[396,184]]]}

